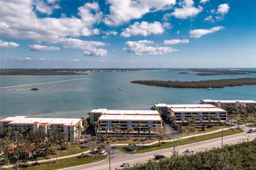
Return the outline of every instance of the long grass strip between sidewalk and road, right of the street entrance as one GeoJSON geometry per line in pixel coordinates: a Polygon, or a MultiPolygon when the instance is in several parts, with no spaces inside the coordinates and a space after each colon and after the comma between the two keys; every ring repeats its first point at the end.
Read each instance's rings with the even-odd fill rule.
{"type": "MultiPolygon", "coordinates": [[[[243,130],[238,130],[238,129],[228,129],[226,131],[223,131],[223,136],[228,136],[228,135],[233,135],[233,134],[237,134],[237,133],[242,133],[243,130]]],[[[216,132],[216,133],[212,133],[212,134],[207,134],[207,135],[202,135],[202,136],[196,136],[195,140],[193,140],[193,137],[190,137],[188,139],[183,139],[183,140],[179,140],[177,141],[177,143],[175,144],[176,146],[178,145],[184,145],[184,144],[189,144],[189,143],[195,143],[195,142],[200,142],[200,141],[205,141],[205,140],[210,140],[210,139],[214,139],[217,137],[221,137],[221,133],[222,132],[216,132]]],[[[125,147],[117,147],[117,149],[119,149],[120,151],[124,152],[124,153],[146,153],[146,152],[151,152],[151,151],[156,151],[156,150],[161,150],[161,149],[166,149],[166,148],[171,148],[173,147],[173,142],[166,142],[163,143],[161,146],[157,144],[153,144],[150,146],[145,146],[145,147],[138,147],[136,151],[133,152],[128,152],[125,150],[125,147]]]]}

